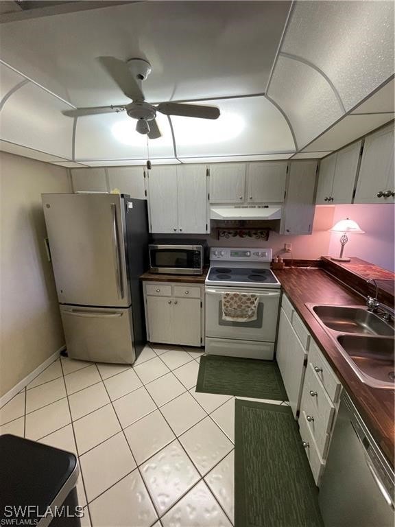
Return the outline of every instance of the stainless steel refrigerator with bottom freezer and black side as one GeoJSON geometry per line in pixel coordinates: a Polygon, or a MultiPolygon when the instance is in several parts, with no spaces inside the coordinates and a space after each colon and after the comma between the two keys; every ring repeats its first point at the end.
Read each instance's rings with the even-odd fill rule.
{"type": "Polygon", "coordinates": [[[130,363],[145,343],[147,203],[119,194],[43,194],[69,357],[130,363]]]}

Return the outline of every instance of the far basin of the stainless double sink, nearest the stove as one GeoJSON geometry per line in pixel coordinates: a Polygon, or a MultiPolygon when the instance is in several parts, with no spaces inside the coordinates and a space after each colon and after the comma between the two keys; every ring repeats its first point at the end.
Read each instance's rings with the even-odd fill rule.
{"type": "Polygon", "coordinates": [[[394,329],[379,316],[363,307],[314,305],[313,312],[326,327],[342,333],[394,335],[394,329]]]}

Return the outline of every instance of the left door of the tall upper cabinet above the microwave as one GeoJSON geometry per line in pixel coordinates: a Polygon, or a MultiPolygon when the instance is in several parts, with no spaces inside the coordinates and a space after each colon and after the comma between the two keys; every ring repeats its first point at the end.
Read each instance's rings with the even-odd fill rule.
{"type": "Polygon", "coordinates": [[[147,181],[149,232],[178,232],[177,167],[152,167],[147,181]]]}

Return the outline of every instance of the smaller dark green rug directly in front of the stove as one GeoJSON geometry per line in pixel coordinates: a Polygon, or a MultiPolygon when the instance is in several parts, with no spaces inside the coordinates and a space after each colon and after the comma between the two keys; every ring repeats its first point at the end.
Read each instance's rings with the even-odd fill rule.
{"type": "Polygon", "coordinates": [[[276,362],[223,355],[202,355],[196,391],[253,399],[288,400],[276,362]]]}

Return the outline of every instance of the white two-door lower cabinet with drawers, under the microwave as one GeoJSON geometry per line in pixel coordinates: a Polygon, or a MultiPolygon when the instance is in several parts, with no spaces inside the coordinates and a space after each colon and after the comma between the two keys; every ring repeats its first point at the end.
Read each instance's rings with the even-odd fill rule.
{"type": "Polygon", "coordinates": [[[144,282],[143,288],[149,342],[202,346],[204,291],[201,285],[144,282]]]}

